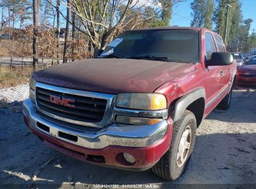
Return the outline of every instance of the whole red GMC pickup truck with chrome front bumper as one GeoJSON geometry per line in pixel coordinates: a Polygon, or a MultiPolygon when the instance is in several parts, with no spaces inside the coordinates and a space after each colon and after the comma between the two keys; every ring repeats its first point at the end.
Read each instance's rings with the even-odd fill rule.
{"type": "Polygon", "coordinates": [[[178,178],[202,119],[230,106],[237,66],[220,35],[193,27],[128,30],[98,52],[31,76],[27,126],[77,159],[178,178]]]}

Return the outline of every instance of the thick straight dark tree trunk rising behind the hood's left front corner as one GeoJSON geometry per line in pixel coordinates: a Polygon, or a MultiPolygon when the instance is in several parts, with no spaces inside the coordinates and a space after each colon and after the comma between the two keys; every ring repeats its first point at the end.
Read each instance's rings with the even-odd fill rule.
{"type": "Polygon", "coordinates": [[[38,7],[40,0],[33,0],[33,16],[34,16],[34,29],[33,29],[33,71],[37,71],[38,57],[37,57],[37,44],[38,44],[38,7]]]}

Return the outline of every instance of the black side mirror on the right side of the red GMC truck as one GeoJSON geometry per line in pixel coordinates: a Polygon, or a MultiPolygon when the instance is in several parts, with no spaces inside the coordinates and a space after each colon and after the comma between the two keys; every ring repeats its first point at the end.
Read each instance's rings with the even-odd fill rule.
{"type": "Polygon", "coordinates": [[[207,60],[206,66],[225,66],[233,63],[233,56],[229,52],[214,52],[211,59],[207,60]]]}

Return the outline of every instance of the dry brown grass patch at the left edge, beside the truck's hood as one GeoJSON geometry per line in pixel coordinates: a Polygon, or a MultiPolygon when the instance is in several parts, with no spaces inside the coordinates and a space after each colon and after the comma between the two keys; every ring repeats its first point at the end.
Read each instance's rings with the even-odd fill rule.
{"type": "Polygon", "coordinates": [[[2,66],[1,67],[1,78],[0,78],[0,90],[2,88],[9,88],[12,86],[29,83],[29,77],[32,73],[32,66],[12,67],[2,66]]]}

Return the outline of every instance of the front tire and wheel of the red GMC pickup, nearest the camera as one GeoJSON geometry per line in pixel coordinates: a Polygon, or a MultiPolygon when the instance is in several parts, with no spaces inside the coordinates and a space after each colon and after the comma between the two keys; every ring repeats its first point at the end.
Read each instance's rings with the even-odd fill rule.
{"type": "Polygon", "coordinates": [[[185,110],[183,116],[181,116],[181,118],[174,124],[173,137],[168,151],[163,155],[163,157],[161,157],[158,163],[152,167],[153,172],[158,175],[158,177],[164,178],[166,180],[175,180],[183,174],[184,170],[186,170],[187,163],[189,162],[190,156],[194,149],[196,128],[196,117],[191,111],[185,110]],[[181,163],[181,159],[177,158],[179,144],[181,142],[182,136],[184,136],[185,132],[188,132],[188,127],[191,131],[191,136],[189,137],[189,140],[186,141],[190,142],[190,146],[188,149],[185,148],[184,152],[186,155],[183,163],[181,163]]]}

